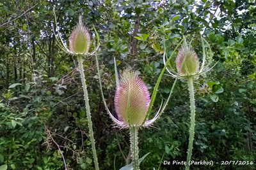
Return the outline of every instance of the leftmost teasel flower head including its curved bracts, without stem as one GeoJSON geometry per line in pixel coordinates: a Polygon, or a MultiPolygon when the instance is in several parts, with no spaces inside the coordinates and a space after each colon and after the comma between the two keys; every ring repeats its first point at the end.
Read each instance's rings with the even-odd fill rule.
{"type": "Polygon", "coordinates": [[[54,32],[54,36],[57,39],[57,44],[60,46],[60,48],[72,55],[93,55],[99,48],[100,42],[99,42],[99,34],[97,33],[95,27],[93,26],[93,29],[95,31],[96,37],[97,37],[97,45],[95,46],[95,49],[93,52],[89,52],[90,45],[91,45],[91,38],[88,29],[84,26],[82,16],[79,16],[79,21],[76,25],[76,27],[73,29],[73,31],[70,34],[69,38],[69,48],[64,43],[63,39],[61,39],[60,31],[58,29],[57,21],[56,21],[56,15],[54,11],[54,17],[55,17],[55,23],[56,23],[56,33],[54,30],[54,26],[52,25],[52,29],[54,32]],[[58,37],[60,39],[58,39],[58,37]]]}

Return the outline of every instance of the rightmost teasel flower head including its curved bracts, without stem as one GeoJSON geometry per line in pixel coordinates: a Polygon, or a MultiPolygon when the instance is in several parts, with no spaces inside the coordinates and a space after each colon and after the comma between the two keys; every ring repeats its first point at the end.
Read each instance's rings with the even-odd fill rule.
{"type": "MultiPolygon", "coordinates": [[[[202,37],[201,37],[202,38],[202,37]]],[[[189,78],[191,76],[195,77],[198,76],[200,74],[204,74],[207,73],[208,71],[210,71],[218,62],[216,62],[216,64],[214,64],[214,66],[212,66],[211,68],[209,68],[209,65],[212,62],[212,52],[211,52],[211,48],[209,46],[209,44],[207,43],[207,41],[205,41],[204,38],[202,38],[202,46],[203,46],[203,60],[202,60],[202,65],[200,67],[200,62],[199,62],[199,58],[195,52],[195,50],[193,50],[193,48],[190,46],[190,44],[188,45],[188,43],[186,42],[186,39],[184,38],[184,43],[182,44],[182,46],[179,49],[179,52],[177,54],[176,57],[176,69],[177,71],[175,71],[175,69],[173,69],[172,66],[170,66],[170,68],[168,69],[168,67],[166,67],[166,70],[168,71],[168,73],[170,73],[170,76],[172,76],[173,78],[189,78]],[[205,43],[207,44],[207,46],[209,47],[209,59],[206,59],[206,55],[205,55],[205,43]],[[208,61],[207,64],[206,60],[208,61]]],[[[163,61],[165,64],[165,53],[163,56],[163,61]]]]}

